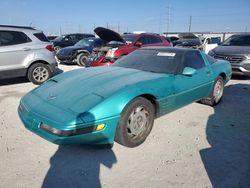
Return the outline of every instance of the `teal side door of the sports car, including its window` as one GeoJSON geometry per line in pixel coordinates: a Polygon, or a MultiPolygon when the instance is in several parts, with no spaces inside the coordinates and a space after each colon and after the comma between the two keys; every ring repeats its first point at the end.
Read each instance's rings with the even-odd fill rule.
{"type": "Polygon", "coordinates": [[[195,69],[194,74],[178,74],[174,81],[175,106],[181,107],[200,100],[210,94],[212,89],[212,71],[199,51],[190,51],[184,55],[182,70],[195,69]]]}

